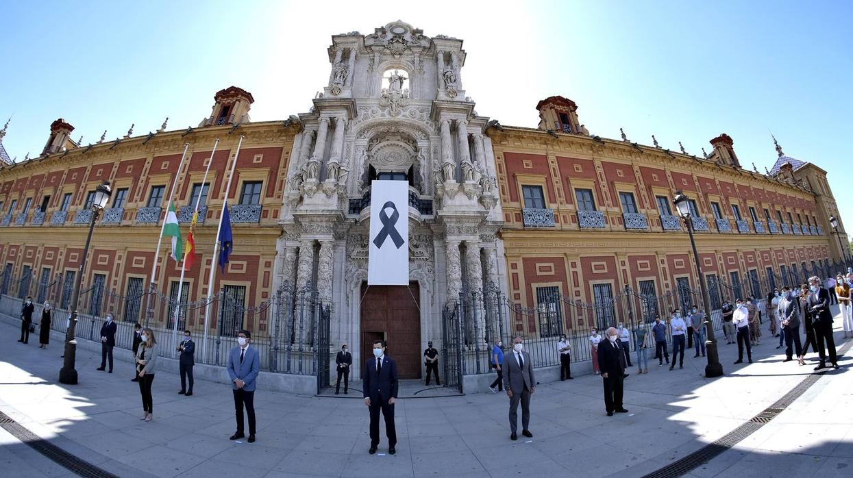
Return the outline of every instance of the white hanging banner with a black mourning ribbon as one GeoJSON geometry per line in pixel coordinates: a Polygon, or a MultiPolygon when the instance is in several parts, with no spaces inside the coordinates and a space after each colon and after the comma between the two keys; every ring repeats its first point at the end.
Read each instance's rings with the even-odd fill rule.
{"type": "Polygon", "coordinates": [[[409,285],[409,183],[370,187],[368,285],[409,285]]]}

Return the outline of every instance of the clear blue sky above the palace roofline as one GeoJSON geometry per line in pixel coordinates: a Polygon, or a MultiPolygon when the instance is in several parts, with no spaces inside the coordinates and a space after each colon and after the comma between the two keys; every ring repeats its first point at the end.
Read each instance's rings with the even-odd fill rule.
{"type": "MultiPolygon", "coordinates": [[[[688,152],[722,132],[741,162],[785,153],[827,170],[853,230],[842,174],[853,132],[850,2],[9,2],[0,121],[10,156],[38,155],[55,118],[96,141],[195,126],[212,95],[252,92],[253,120],[305,112],[328,81],[331,35],[401,19],[465,40],[479,114],[535,126],[565,95],[597,135],[688,152]],[[357,6],[353,6],[357,4],[357,6]]],[[[845,171],[846,170],[846,171],[845,171]]]]}

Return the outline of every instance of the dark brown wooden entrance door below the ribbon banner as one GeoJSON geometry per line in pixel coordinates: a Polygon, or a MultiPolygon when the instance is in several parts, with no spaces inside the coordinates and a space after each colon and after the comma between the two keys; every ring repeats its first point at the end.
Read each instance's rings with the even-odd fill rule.
{"type": "Polygon", "coordinates": [[[421,288],[405,285],[362,284],[361,332],[363,365],[373,354],[373,342],[383,339],[387,353],[397,361],[402,378],[421,377],[421,288]]]}

